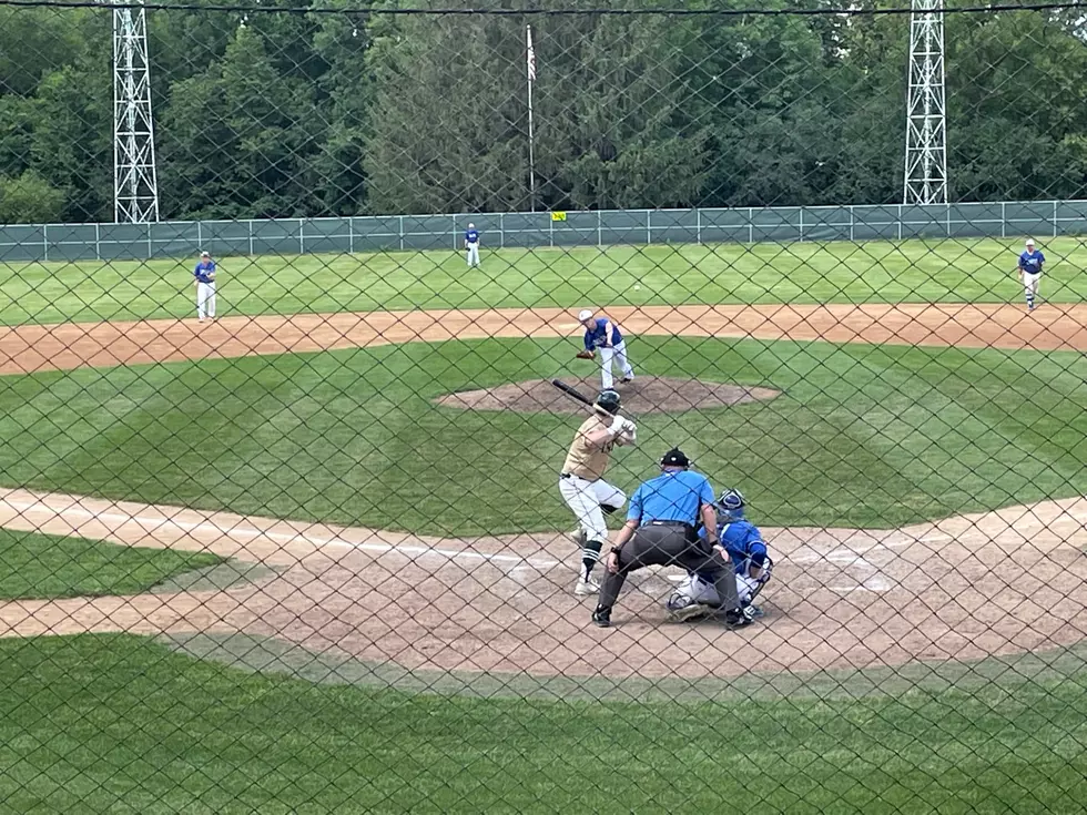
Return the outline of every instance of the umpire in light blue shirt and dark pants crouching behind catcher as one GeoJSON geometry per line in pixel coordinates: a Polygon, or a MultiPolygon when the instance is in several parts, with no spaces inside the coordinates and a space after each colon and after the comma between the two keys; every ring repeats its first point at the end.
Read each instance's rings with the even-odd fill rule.
{"type": "Polygon", "coordinates": [[[719,608],[731,628],[750,625],[752,620],[740,608],[735,572],[729,554],[718,539],[713,489],[705,476],[692,472],[691,462],[679,448],[672,448],[660,461],[661,475],[642,483],[630,499],[627,523],[608,554],[608,577],[600,591],[600,602],[592,622],[611,625],[616,604],[627,575],[644,566],[681,566],[713,581],[719,608]],[[702,540],[698,522],[709,532],[702,540]]]}

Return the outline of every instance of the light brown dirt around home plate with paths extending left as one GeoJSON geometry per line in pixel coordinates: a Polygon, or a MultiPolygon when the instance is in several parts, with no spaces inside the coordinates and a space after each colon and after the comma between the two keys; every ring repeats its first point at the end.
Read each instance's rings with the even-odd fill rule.
{"type": "Polygon", "coordinates": [[[1014,654],[1084,639],[1087,499],[895,531],[766,529],[766,617],[668,624],[672,572],[639,573],[617,628],[571,594],[558,536],[440,540],[24,490],[0,526],[273,567],[227,590],[0,603],[0,636],[234,633],[406,669],[568,676],[732,676],[1014,654]],[[937,564],[938,566],[934,566],[937,564]],[[923,567],[923,568],[922,568],[923,567]],[[636,588],[637,587],[637,588],[636,588]]]}

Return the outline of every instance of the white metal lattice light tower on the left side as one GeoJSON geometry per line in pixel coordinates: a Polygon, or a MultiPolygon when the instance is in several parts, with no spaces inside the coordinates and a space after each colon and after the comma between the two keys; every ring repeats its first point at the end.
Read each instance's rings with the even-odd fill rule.
{"type": "Polygon", "coordinates": [[[113,220],[159,220],[148,18],[138,8],[113,9],[113,220]]]}

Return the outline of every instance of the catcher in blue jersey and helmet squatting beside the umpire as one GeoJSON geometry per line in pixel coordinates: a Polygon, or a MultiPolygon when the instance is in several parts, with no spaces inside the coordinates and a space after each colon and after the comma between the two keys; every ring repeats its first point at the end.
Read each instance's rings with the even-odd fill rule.
{"type": "MultiPolygon", "coordinates": [[[[735,567],[736,593],[740,605],[750,607],[750,613],[760,617],[761,611],[751,605],[762,588],[770,582],[773,561],[766,551],[759,528],[744,516],[744,500],[740,490],[725,490],[717,501],[718,540],[729,553],[735,567]]],[[[707,538],[705,527],[699,537],[707,538]]],[[[708,574],[691,572],[683,583],[668,598],[666,607],[678,619],[694,619],[712,613],[720,604],[713,581],[708,574]]]]}

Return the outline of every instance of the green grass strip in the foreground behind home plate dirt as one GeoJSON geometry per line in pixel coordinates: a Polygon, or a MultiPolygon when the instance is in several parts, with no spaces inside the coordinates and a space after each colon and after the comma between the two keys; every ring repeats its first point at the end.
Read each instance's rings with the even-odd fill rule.
{"type": "Polygon", "coordinates": [[[0,808],[13,813],[743,802],[956,815],[1079,812],[1087,798],[1075,678],[860,701],[479,700],[261,676],[124,635],[6,640],[0,666],[0,808]]]}

